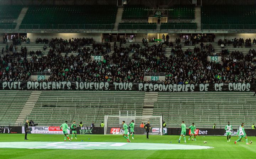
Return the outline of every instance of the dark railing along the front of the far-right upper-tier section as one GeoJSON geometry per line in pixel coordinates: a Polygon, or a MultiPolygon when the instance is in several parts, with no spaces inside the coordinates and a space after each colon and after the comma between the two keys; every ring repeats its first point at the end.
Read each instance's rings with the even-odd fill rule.
{"type": "Polygon", "coordinates": [[[201,24],[202,30],[255,30],[256,24],[201,24]]]}

